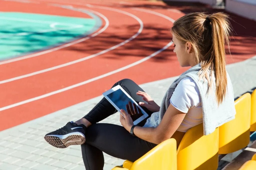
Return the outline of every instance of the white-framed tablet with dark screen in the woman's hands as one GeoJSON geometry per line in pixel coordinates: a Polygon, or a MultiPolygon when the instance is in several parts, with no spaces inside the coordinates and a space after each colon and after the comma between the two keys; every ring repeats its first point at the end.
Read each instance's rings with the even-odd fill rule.
{"type": "MultiPolygon", "coordinates": [[[[133,100],[133,98],[124,91],[124,89],[117,85],[110,90],[103,93],[103,96],[120,112],[121,109],[130,114],[133,124],[136,125],[148,117],[148,114],[133,100]],[[133,112],[127,110],[132,108],[133,112]]],[[[122,113],[121,113],[122,114],[122,113]]],[[[123,114],[122,114],[123,115],[123,114]]]]}

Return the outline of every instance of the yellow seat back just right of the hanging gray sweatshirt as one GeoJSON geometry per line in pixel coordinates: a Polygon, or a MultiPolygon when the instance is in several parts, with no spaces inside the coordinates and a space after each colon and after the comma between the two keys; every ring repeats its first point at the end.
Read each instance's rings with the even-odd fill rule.
{"type": "Polygon", "coordinates": [[[251,95],[246,93],[235,101],[235,119],[219,127],[219,154],[238,151],[250,142],[251,95]]]}

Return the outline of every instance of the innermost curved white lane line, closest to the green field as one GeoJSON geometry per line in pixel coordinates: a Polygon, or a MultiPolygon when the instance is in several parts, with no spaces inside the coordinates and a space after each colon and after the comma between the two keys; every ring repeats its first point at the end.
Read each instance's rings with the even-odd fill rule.
{"type": "Polygon", "coordinates": [[[31,55],[27,55],[27,56],[23,56],[23,57],[18,57],[18,58],[14,58],[14,59],[10,59],[10,60],[5,60],[5,61],[2,61],[0,62],[0,65],[2,64],[6,64],[6,63],[10,63],[10,62],[14,62],[14,61],[19,61],[19,60],[23,60],[23,59],[27,59],[27,58],[32,58],[32,57],[36,57],[36,56],[39,56],[39,55],[43,55],[43,54],[47,54],[47,53],[51,53],[53,51],[56,51],[56,50],[59,50],[59,49],[62,49],[62,48],[66,48],[66,47],[69,47],[71,45],[74,45],[74,44],[78,44],[78,43],[81,43],[83,41],[86,41],[92,37],[95,37],[97,35],[99,35],[100,33],[102,33],[103,31],[105,31],[108,26],[109,26],[109,20],[108,18],[106,18],[104,15],[102,15],[101,13],[97,12],[97,11],[93,11],[93,10],[89,10],[89,9],[85,9],[85,10],[88,10],[88,11],[91,11],[93,12],[94,14],[100,16],[101,18],[103,18],[103,20],[105,21],[105,25],[102,29],[100,29],[99,31],[95,32],[94,34],[92,35],[89,35],[87,37],[84,37],[84,38],[81,38],[79,40],[76,40],[76,41],[73,41],[71,43],[68,43],[68,44],[64,44],[64,45],[61,45],[59,47],[55,47],[55,48],[52,48],[52,49],[49,49],[49,50],[45,50],[45,51],[41,51],[39,53],[35,53],[35,54],[31,54],[31,55]]]}

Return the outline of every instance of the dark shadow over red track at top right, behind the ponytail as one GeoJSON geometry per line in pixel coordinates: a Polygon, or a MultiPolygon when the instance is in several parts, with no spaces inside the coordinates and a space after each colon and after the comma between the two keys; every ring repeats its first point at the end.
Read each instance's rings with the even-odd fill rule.
{"type": "Polygon", "coordinates": [[[232,58],[242,59],[239,55],[255,55],[256,54],[256,21],[244,18],[226,11],[225,9],[214,9],[208,4],[193,3],[193,2],[179,2],[179,1],[163,1],[164,4],[150,3],[150,4],[122,4],[120,7],[124,8],[145,8],[153,9],[176,9],[184,14],[191,12],[206,12],[212,14],[214,12],[224,12],[230,16],[230,23],[233,28],[230,36],[230,52],[232,58]]]}

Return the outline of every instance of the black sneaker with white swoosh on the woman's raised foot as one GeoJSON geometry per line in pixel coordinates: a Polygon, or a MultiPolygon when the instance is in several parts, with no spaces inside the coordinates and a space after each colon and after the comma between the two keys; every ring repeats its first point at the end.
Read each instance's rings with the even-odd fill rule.
{"type": "Polygon", "coordinates": [[[45,140],[57,148],[67,148],[70,145],[82,145],[85,142],[86,126],[68,122],[62,128],[45,135],[45,140]]]}

